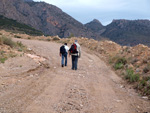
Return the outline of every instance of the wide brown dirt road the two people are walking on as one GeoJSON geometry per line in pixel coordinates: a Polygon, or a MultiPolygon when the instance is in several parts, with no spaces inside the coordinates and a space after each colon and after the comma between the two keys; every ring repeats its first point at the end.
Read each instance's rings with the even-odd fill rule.
{"type": "MultiPolygon", "coordinates": [[[[19,40],[19,39],[15,39],[19,40]]],[[[126,86],[96,55],[82,47],[78,70],[60,66],[61,44],[21,40],[37,55],[47,58],[40,67],[18,75],[21,82],[0,92],[4,113],[148,113],[150,102],[126,86]],[[31,75],[32,76],[28,76],[31,75]]],[[[26,62],[28,63],[28,62],[26,62]]]]}

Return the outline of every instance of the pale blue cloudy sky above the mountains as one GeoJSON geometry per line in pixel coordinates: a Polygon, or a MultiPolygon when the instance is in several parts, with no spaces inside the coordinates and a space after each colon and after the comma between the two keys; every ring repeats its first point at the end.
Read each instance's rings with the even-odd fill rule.
{"type": "Polygon", "coordinates": [[[109,24],[113,19],[150,19],[150,0],[41,1],[56,5],[83,24],[93,19],[98,19],[103,25],[109,24]]]}

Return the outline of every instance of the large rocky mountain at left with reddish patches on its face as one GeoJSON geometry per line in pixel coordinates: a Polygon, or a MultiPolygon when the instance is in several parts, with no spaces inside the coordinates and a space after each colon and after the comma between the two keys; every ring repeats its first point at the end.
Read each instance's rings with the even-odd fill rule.
{"type": "Polygon", "coordinates": [[[82,23],[58,7],[44,2],[25,1],[0,0],[0,15],[30,25],[43,31],[46,35],[96,37],[82,23]]]}

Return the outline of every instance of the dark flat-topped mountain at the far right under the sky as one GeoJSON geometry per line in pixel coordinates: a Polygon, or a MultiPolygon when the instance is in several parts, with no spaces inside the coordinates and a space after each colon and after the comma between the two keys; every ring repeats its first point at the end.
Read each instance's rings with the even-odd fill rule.
{"type": "Polygon", "coordinates": [[[113,20],[101,36],[108,37],[121,45],[150,45],[149,20],[113,20]]]}

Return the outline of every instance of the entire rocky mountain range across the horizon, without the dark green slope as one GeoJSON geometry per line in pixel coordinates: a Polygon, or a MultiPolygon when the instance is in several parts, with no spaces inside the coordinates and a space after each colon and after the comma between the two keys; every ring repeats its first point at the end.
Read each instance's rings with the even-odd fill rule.
{"type": "Polygon", "coordinates": [[[113,20],[103,26],[94,19],[83,25],[60,8],[32,0],[0,0],[0,15],[43,31],[45,35],[66,38],[87,37],[100,40],[106,37],[121,45],[150,45],[149,20],[113,20]],[[31,2],[29,2],[31,1],[31,2]]]}

